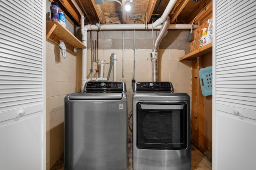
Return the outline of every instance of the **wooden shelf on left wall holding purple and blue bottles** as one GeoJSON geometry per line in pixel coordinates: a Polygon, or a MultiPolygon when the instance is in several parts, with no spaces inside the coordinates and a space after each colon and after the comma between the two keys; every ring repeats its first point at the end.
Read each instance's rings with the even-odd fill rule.
{"type": "Polygon", "coordinates": [[[46,40],[47,39],[51,39],[57,44],[59,44],[60,39],[62,39],[65,42],[66,48],[72,52],[74,51],[74,48],[86,48],[79,39],[58,21],[46,21],[46,40]]]}

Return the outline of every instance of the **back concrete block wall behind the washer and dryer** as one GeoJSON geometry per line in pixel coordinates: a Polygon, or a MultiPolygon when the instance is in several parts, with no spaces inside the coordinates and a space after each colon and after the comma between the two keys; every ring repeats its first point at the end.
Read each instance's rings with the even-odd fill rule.
{"type": "MultiPolygon", "coordinates": [[[[133,49],[134,31],[124,31],[124,51],[122,50],[123,31],[101,31],[98,33],[98,59],[104,61],[104,77],[108,75],[112,53],[117,55],[118,81],[122,80],[124,72],[128,93],[127,116],[132,111],[133,58],[135,58],[134,79],[136,81],[152,81],[152,63],[149,56],[153,49],[152,36],[156,39],[158,32],[135,31],[135,49],[133,49]],[[122,67],[123,62],[124,68],[122,67]]],[[[188,30],[168,30],[168,33],[160,43],[158,51],[158,79],[159,81],[172,82],[175,92],[188,93],[190,95],[191,63],[190,61],[178,61],[179,57],[189,53],[189,43],[186,41],[188,33],[188,30]]],[[[91,68],[90,33],[88,35],[87,70],[91,68]]],[[[92,31],[92,39],[97,39],[96,31],[92,31]]],[[[100,68],[100,66],[98,67],[100,68]]],[[[93,63],[93,70],[95,68],[97,68],[97,63],[93,63]]],[[[87,78],[90,78],[89,71],[87,73],[87,78]]],[[[96,76],[95,71],[92,76],[96,76]]],[[[110,81],[112,80],[113,72],[110,74],[110,81]]],[[[130,122],[132,122],[132,119],[130,119],[130,122]]],[[[128,135],[132,135],[130,130],[128,130],[128,135]]]]}

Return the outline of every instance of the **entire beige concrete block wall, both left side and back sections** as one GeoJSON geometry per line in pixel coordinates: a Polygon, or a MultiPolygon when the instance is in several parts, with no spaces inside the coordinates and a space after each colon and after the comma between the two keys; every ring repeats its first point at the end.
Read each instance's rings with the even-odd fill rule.
{"type": "MultiPolygon", "coordinates": [[[[79,30],[77,31],[80,32],[79,30]]],[[[135,49],[133,50],[134,31],[124,31],[124,52],[122,50],[123,31],[99,32],[98,59],[105,63],[104,77],[110,66],[110,55],[117,55],[117,79],[122,72],[128,90],[128,115],[132,111],[133,57],[135,57],[134,78],[136,81],[151,81],[152,68],[149,58],[153,49],[153,39],[159,31],[135,31],[135,49]],[[123,55],[124,53],[124,55],[123,55]],[[135,56],[134,56],[135,53],[135,56]],[[123,60],[124,57],[124,60],[123,60]],[[124,68],[122,67],[124,61],[124,68]]],[[[186,42],[188,30],[168,30],[160,43],[158,53],[159,81],[170,81],[175,92],[190,94],[190,61],[179,62],[178,58],[189,53],[186,42]]],[[[79,35],[78,35],[79,36],[79,35]]],[[[92,31],[92,39],[97,32],[92,31]]],[[[87,46],[87,78],[90,78],[90,32],[87,46]]],[[[46,41],[46,169],[49,170],[64,153],[64,97],[66,94],[80,92],[81,88],[81,50],[60,57],[58,45],[46,41]]],[[[93,63],[93,69],[96,63],[93,63]]],[[[100,66],[99,66],[100,68],[100,66]]],[[[111,73],[110,80],[113,74],[111,73]]],[[[93,72],[95,77],[95,71],[93,72]]],[[[98,74],[99,76],[99,74],[98,74]]],[[[127,117],[128,117],[127,115],[127,117]]],[[[132,122],[132,119],[130,120],[132,122]]],[[[132,132],[128,130],[128,135],[132,132]]]]}

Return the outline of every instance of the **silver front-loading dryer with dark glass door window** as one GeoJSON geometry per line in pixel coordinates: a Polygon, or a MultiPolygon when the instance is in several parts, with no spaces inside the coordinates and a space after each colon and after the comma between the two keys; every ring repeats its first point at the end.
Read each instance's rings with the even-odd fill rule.
{"type": "Polygon", "coordinates": [[[191,170],[190,96],[170,82],[136,82],[133,169],[191,170]]]}

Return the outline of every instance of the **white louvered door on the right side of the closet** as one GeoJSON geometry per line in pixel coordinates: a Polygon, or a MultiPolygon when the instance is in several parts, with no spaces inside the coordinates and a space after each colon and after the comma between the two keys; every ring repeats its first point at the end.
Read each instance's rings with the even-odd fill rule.
{"type": "Polygon", "coordinates": [[[213,3],[213,169],[256,160],[256,1],[213,3]]]}

